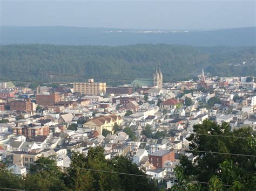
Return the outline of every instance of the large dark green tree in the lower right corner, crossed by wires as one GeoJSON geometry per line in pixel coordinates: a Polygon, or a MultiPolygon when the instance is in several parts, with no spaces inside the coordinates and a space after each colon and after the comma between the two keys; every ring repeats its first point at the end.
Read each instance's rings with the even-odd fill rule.
{"type": "MultiPolygon", "coordinates": [[[[199,157],[193,161],[196,165],[193,165],[187,157],[181,157],[180,165],[175,169],[178,182],[174,190],[175,188],[186,189],[194,180],[209,182],[209,185],[199,185],[215,190],[255,190],[255,157],[196,152],[256,155],[255,140],[250,139],[251,128],[230,132],[230,126],[227,123],[217,125],[211,121],[204,121],[203,124],[194,125],[194,132],[201,135],[191,135],[187,140],[190,141],[192,153],[199,157]],[[203,134],[230,137],[203,136],[203,134]],[[248,139],[235,137],[248,137],[248,139]],[[223,185],[231,185],[231,187],[221,187],[223,185]]],[[[197,190],[201,190],[196,183],[192,185],[196,186],[197,190]]]]}

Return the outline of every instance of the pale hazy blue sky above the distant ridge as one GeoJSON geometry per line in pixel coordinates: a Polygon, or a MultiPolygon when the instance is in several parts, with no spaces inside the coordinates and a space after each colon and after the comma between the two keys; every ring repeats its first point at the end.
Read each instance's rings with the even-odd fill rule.
{"type": "Polygon", "coordinates": [[[255,1],[0,0],[2,26],[226,29],[255,26],[255,1]]]}

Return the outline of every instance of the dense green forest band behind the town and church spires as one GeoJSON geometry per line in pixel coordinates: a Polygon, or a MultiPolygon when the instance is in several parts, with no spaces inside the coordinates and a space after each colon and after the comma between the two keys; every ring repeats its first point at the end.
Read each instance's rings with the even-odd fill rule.
{"type": "Polygon", "coordinates": [[[86,77],[23,74],[3,70],[95,76],[96,81],[118,85],[135,78],[152,79],[156,64],[164,81],[200,74],[244,76],[256,74],[255,47],[192,47],[166,44],[127,46],[6,45],[0,50],[2,79],[85,81],[86,77]],[[245,62],[243,64],[243,62],[245,62]],[[97,78],[97,76],[99,78],[97,78]],[[111,80],[109,77],[126,80],[111,80]]]}

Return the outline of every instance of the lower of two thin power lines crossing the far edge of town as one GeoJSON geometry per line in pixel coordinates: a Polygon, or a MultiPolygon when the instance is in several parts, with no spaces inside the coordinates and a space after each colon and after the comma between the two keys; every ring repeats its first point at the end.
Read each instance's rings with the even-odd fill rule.
{"type": "MultiPolygon", "coordinates": [[[[2,81],[17,81],[17,82],[29,82],[29,83],[46,83],[46,84],[73,84],[70,82],[43,82],[43,81],[29,81],[29,80],[14,80],[14,79],[0,79],[2,81]]],[[[78,82],[84,83],[84,82],[78,82]]],[[[95,86],[93,84],[88,84],[88,86],[95,86]]],[[[108,88],[135,88],[135,87],[120,87],[120,86],[103,86],[97,85],[97,87],[108,87],[108,88]]],[[[178,90],[178,91],[186,91],[178,88],[140,88],[140,89],[158,89],[158,90],[178,90]]],[[[234,90],[201,90],[201,89],[190,89],[189,91],[201,91],[201,92],[214,92],[214,93],[244,93],[244,94],[256,94],[254,91],[234,91],[234,90]]]]}

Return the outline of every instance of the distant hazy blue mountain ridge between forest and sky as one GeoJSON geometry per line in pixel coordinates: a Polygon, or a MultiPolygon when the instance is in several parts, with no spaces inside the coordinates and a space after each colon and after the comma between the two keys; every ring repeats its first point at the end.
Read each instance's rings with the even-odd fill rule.
{"type": "Polygon", "coordinates": [[[256,27],[211,31],[129,30],[69,26],[1,26],[1,45],[177,44],[191,46],[255,46],[256,27]]]}

